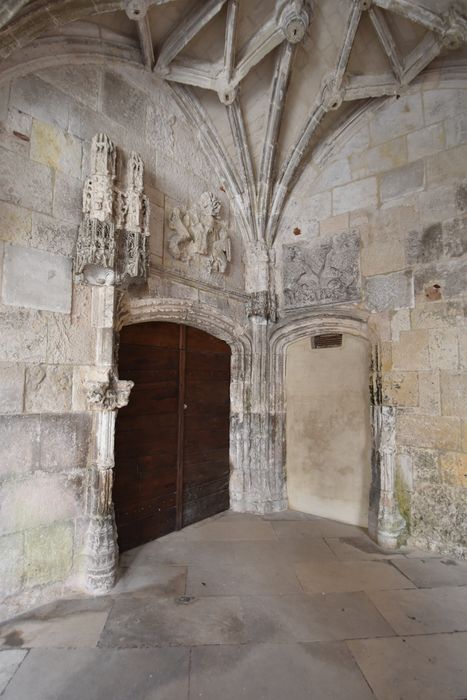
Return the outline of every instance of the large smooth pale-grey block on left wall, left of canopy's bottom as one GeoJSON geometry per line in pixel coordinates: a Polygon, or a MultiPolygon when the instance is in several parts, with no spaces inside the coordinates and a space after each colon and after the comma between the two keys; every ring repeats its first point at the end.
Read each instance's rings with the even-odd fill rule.
{"type": "Polygon", "coordinates": [[[7,246],[3,300],[12,306],[69,313],[71,260],[34,248],[7,246]]]}

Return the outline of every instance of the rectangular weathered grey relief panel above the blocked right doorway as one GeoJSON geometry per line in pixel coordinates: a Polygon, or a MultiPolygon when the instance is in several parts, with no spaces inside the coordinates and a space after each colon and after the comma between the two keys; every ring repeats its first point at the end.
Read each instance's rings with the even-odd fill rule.
{"type": "Polygon", "coordinates": [[[283,271],[286,307],[358,301],[358,235],[343,233],[317,245],[285,245],[283,271]]]}

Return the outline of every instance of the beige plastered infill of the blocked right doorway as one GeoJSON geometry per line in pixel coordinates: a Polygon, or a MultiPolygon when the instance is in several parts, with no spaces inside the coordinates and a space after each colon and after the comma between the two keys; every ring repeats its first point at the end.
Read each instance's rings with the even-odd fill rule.
{"type": "Polygon", "coordinates": [[[293,510],[368,526],[371,482],[368,342],[287,349],[287,493],[293,510]]]}

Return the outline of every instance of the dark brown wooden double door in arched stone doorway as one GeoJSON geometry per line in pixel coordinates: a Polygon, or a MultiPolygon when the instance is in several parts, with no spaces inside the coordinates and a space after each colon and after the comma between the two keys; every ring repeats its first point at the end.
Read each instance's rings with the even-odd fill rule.
{"type": "Polygon", "coordinates": [[[190,326],[126,326],[119,372],[135,383],[115,434],[125,551],[229,507],[230,348],[190,326]]]}

